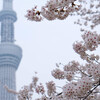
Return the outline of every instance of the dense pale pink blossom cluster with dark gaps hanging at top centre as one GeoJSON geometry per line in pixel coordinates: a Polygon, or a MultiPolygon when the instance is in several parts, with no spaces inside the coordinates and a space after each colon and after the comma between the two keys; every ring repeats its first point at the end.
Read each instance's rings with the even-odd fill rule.
{"type": "Polygon", "coordinates": [[[73,12],[79,11],[80,5],[74,4],[77,0],[50,0],[41,10],[37,10],[37,6],[27,11],[27,19],[31,21],[41,21],[43,18],[47,20],[60,19],[64,20],[73,12]]]}

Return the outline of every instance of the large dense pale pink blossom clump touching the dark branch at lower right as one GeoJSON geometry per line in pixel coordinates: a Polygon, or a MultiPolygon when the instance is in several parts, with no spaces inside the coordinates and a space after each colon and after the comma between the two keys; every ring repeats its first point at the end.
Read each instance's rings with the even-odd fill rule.
{"type": "Polygon", "coordinates": [[[78,82],[68,83],[63,87],[63,96],[66,99],[78,99],[92,88],[92,82],[89,77],[83,77],[78,82]]]}

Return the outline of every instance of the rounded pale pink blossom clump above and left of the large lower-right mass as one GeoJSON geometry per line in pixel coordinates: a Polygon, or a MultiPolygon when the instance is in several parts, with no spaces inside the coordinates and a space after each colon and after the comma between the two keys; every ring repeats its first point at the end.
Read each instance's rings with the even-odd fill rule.
{"type": "Polygon", "coordinates": [[[67,79],[68,81],[71,81],[74,78],[75,72],[78,71],[78,66],[79,63],[73,60],[65,65],[63,70],[56,68],[51,74],[55,79],[67,79]]]}

